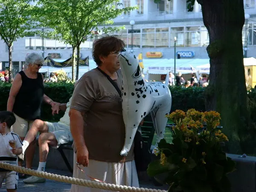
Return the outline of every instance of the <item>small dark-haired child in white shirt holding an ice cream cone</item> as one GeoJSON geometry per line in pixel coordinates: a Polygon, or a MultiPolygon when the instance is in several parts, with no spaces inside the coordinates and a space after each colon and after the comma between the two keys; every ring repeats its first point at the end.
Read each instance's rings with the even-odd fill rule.
{"type": "MultiPolygon", "coordinates": [[[[16,118],[10,111],[0,111],[0,162],[17,165],[17,155],[22,153],[20,137],[10,128],[16,118]]],[[[18,173],[0,168],[0,188],[5,179],[7,192],[17,192],[18,173]]]]}

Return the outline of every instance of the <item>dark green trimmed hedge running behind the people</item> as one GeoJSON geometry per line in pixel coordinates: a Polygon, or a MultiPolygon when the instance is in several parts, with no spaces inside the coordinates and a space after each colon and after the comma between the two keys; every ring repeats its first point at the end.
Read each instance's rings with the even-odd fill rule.
{"type": "MultiPolygon", "coordinates": [[[[6,110],[7,100],[9,96],[11,84],[0,82],[0,111],[6,110]]],[[[52,100],[60,103],[68,102],[74,90],[73,83],[45,83],[45,94],[52,100]]],[[[172,109],[187,111],[194,108],[198,111],[205,111],[204,105],[204,88],[203,87],[170,87],[172,93],[172,109]]],[[[248,91],[250,100],[251,118],[256,122],[256,89],[248,91]],[[255,119],[254,119],[255,118],[255,119]]],[[[52,116],[51,108],[47,104],[43,104],[41,108],[41,116],[43,120],[58,121],[64,112],[52,116]]]]}

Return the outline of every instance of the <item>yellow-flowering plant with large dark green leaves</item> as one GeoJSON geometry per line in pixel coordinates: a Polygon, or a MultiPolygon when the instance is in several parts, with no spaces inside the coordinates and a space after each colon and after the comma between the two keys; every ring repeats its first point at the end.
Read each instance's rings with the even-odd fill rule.
{"type": "Polygon", "coordinates": [[[220,142],[227,137],[217,130],[220,114],[215,111],[186,113],[177,110],[168,116],[176,126],[172,144],[160,140],[155,153],[160,160],[148,166],[148,175],[160,175],[170,185],[170,192],[230,192],[227,174],[235,169],[235,162],[226,157],[220,142]],[[199,128],[207,124],[207,130],[199,128]]]}

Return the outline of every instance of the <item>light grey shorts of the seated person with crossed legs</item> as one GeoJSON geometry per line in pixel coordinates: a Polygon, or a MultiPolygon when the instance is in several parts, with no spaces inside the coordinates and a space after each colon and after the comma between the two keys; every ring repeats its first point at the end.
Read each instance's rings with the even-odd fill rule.
{"type": "Polygon", "coordinates": [[[52,146],[53,148],[58,148],[60,145],[69,143],[73,141],[72,134],[70,132],[70,126],[65,125],[60,122],[46,122],[48,126],[48,131],[55,135],[58,141],[57,146],[52,146]]]}

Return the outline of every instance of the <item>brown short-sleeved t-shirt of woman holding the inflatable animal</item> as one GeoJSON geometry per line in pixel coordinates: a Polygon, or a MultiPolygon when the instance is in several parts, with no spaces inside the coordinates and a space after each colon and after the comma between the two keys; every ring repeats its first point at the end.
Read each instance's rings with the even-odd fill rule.
{"type": "MultiPolygon", "coordinates": [[[[122,74],[118,70],[114,80],[122,88],[122,74]]],[[[122,99],[110,81],[97,69],[84,73],[74,90],[70,108],[84,112],[84,141],[89,159],[120,162],[125,143],[125,124],[122,99]]],[[[134,160],[132,145],[125,161],[134,160]]]]}

